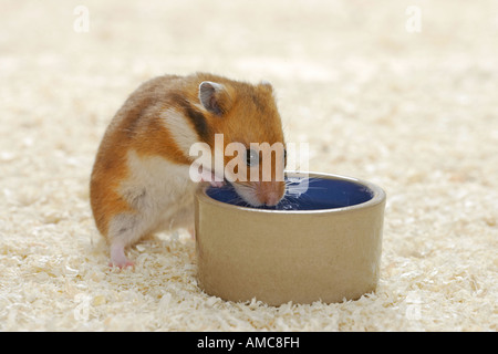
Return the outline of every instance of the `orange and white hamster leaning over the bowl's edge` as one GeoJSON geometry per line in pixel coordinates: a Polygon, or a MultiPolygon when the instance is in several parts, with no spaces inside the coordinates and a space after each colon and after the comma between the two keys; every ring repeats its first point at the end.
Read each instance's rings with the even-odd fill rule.
{"type": "MultiPolygon", "coordinates": [[[[164,75],[143,83],[111,121],[100,144],[90,181],[95,225],[107,240],[111,266],[133,266],[125,249],[143,237],[177,228],[194,231],[194,194],[189,155],[195,143],[205,143],[215,156],[215,135],[224,147],[241,143],[246,156],[224,155],[247,162],[247,173],[261,176],[261,154],[251,143],[284,144],[281,117],[273,88],[222,76],[196,73],[164,75]],[[250,156],[249,156],[250,155],[250,156]],[[255,163],[256,156],[256,163],[255,163]]],[[[243,155],[243,154],[240,154],[243,155]]],[[[276,178],[284,162],[272,160],[272,177],[260,181],[231,181],[237,194],[252,206],[274,206],[286,185],[276,178]]],[[[215,169],[203,169],[203,180],[219,187],[215,169]]]]}

